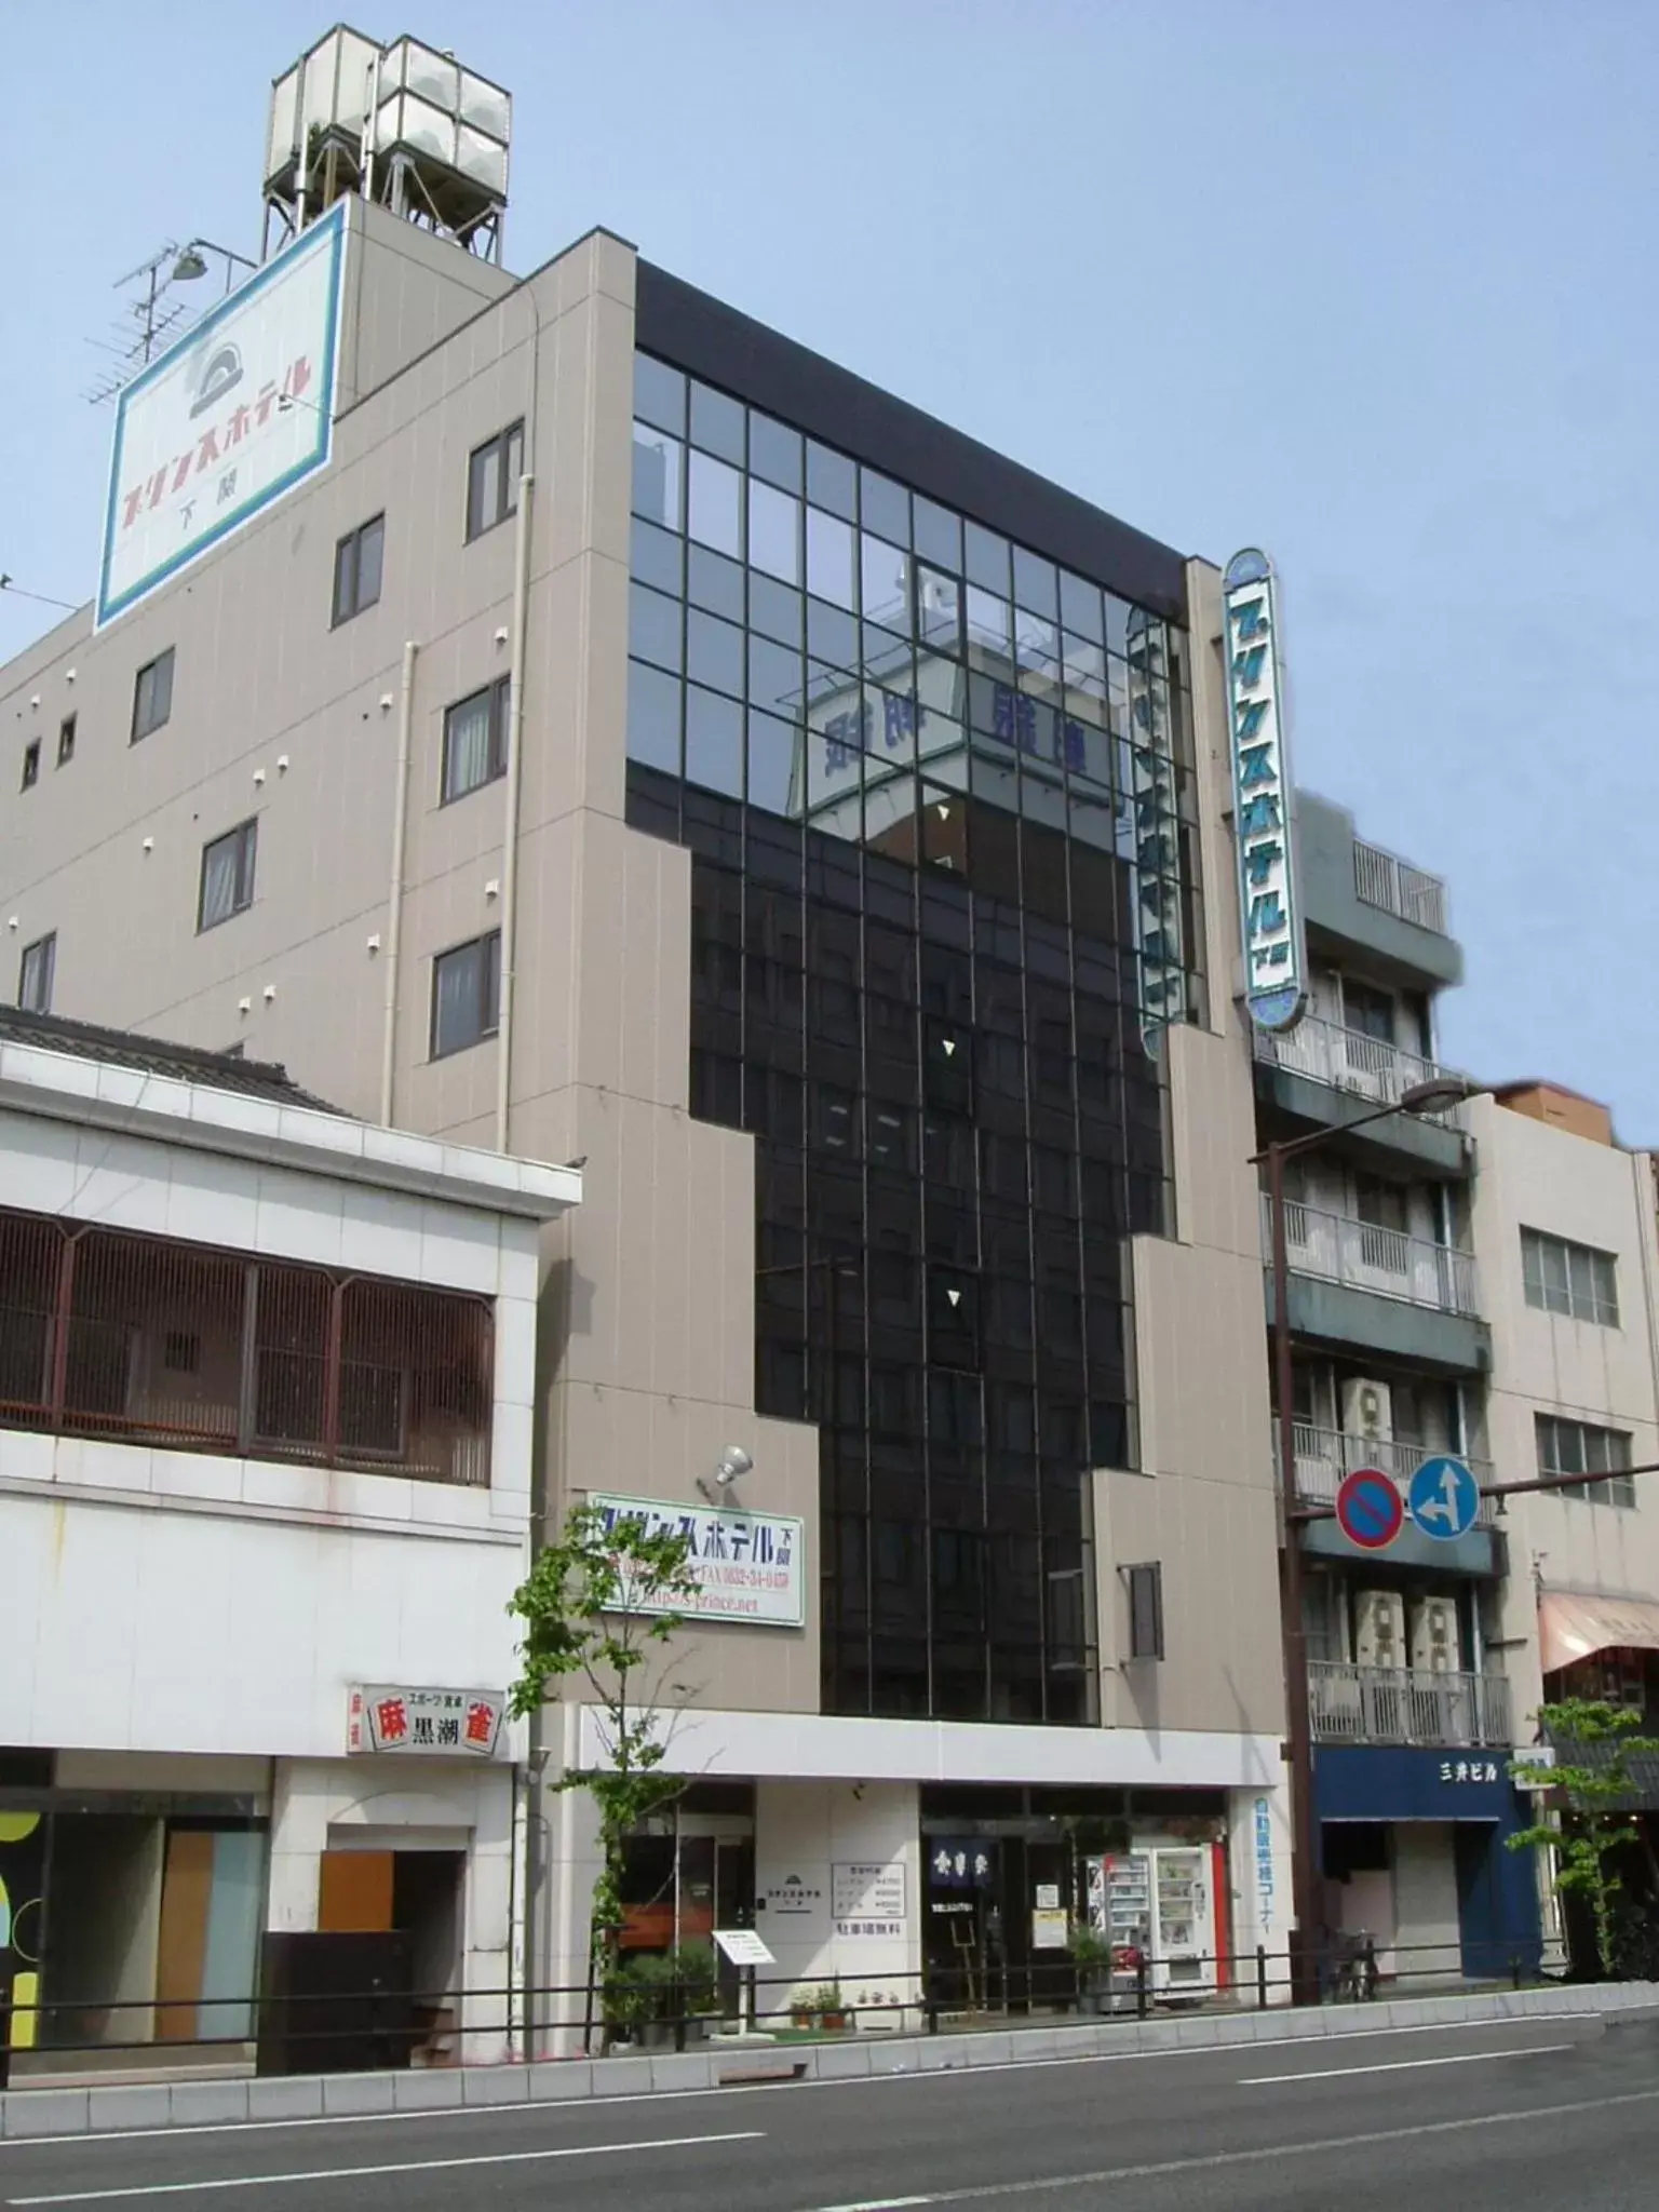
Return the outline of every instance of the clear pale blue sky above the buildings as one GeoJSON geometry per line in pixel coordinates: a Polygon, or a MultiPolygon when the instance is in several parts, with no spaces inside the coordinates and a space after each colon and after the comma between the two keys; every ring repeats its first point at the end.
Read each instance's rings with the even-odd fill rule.
{"type": "MultiPolygon", "coordinates": [[[[332,13],[11,9],[0,568],[91,595],[126,268],[254,252],[332,13]],[[24,212],[24,188],[38,212],[24,212]]],[[[1285,588],[1296,772],[1451,880],[1442,1053],[1659,1141],[1659,7],[606,0],[358,13],[515,95],[507,261],[606,223],[1285,588]]],[[[0,595],[0,655],[53,617],[0,595]]]]}

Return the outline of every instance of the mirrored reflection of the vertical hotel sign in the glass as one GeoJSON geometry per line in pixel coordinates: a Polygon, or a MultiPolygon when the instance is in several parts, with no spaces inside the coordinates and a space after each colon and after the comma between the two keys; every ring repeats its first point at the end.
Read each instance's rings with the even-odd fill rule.
{"type": "Polygon", "coordinates": [[[1128,617],[1128,743],[1135,807],[1135,962],[1141,1044],[1157,1057],[1170,1022],[1186,1020],[1181,947],[1181,818],[1170,748],[1170,670],[1164,624],[1144,608],[1128,617]]]}

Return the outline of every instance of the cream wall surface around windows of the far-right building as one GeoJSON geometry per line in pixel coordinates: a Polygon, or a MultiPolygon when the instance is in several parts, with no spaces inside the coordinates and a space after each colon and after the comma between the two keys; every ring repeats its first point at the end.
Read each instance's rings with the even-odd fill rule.
{"type": "MultiPolygon", "coordinates": [[[[1498,1480],[1524,1482],[1537,1473],[1535,1413],[1626,1429],[1635,1462],[1659,1458],[1652,1161],[1491,1099],[1475,1099],[1471,1117],[1475,1250],[1493,1332],[1486,1420],[1498,1480]],[[1617,1329],[1526,1303],[1522,1228],[1615,1254],[1617,1329]]],[[[1652,1475],[1637,1475],[1635,1509],[1522,1495],[1511,1500],[1504,1526],[1502,1635],[1520,1639],[1506,1657],[1517,1730],[1531,1741],[1528,1721],[1542,1692],[1535,1577],[1555,1590],[1659,1599],[1659,1491],[1652,1475]]]]}

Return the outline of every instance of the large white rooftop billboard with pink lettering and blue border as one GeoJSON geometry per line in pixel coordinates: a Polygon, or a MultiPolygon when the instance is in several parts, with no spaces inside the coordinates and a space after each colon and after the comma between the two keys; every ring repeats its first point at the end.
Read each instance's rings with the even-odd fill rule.
{"type": "Polygon", "coordinates": [[[327,465],[345,201],[119,394],[97,624],[327,465]]]}

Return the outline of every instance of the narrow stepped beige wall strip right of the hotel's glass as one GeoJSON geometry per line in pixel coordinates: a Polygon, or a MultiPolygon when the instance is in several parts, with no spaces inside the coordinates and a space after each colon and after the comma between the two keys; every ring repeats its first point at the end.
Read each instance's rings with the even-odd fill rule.
{"type": "Polygon", "coordinates": [[[1194,757],[1206,883],[1208,1029],[1166,1037],[1175,1237],[1133,1241],[1141,1473],[1095,1475],[1102,1710],[1113,1725],[1276,1734],[1285,1697],[1267,1411],[1254,1093],[1232,1002],[1228,734],[1208,646],[1217,573],[1188,566],[1194,757]],[[1164,1564],[1161,1663],[1130,1661],[1119,1568],[1164,1564]]]}

